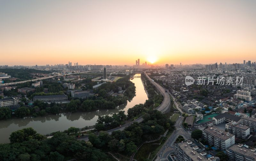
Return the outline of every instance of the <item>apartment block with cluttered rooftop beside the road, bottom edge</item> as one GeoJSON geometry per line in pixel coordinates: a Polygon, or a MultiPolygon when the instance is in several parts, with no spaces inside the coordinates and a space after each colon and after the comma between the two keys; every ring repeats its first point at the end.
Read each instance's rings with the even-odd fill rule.
{"type": "MultiPolygon", "coordinates": [[[[192,142],[187,140],[186,142],[175,143],[175,156],[179,161],[205,161],[206,152],[199,150],[199,147],[192,142]]],[[[211,157],[211,161],[220,161],[219,157],[211,157]]]]}

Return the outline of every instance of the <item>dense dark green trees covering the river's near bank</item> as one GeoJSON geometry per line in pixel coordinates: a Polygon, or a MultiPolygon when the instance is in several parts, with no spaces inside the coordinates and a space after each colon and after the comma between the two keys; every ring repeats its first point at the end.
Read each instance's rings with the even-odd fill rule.
{"type": "Polygon", "coordinates": [[[79,135],[79,129],[76,127],[70,127],[64,132],[55,132],[48,139],[37,134],[32,128],[25,128],[10,135],[11,143],[0,144],[0,158],[4,161],[17,158],[48,161],[56,159],[58,161],[69,159],[114,161],[115,159],[111,155],[107,155],[110,151],[116,151],[129,158],[142,142],[156,139],[167,129],[172,131],[175,128],[174,122],[166,115],[154,110],[154,106],[161,104],[161,100],[163,101],[163,96],[155,93],[154,86],[147,78],[145,81],[148,100],[144,104],[137,104],[128,109],[127,115],[124,114],[124,111],[119,111],[112,116],[99,117],[95,129],[87,133],[89,141],[75,139],[74,136],[79,135]],[[101,131],[118,127],[127,119],[136,119],[142,114],[143,121],[141,123],[134,122],[123,131],[113,131],[111,135],[101,131]],[[98,131],[98,135],[93,134],[93,131],[98,131]]]}

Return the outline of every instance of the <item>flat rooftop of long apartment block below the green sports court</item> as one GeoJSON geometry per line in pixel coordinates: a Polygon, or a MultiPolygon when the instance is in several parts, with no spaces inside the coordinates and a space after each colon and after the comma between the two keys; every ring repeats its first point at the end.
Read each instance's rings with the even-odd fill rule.
{"type": "Polygon", "coordinates": [[[221,130],[215,126],[205,128],[203,131],[206,131],[208,134],[214,135],[215,137],[218,137],[222,140],[227,140],[234,136],[233,134],[227,133],[224,130],[221,130]]]}

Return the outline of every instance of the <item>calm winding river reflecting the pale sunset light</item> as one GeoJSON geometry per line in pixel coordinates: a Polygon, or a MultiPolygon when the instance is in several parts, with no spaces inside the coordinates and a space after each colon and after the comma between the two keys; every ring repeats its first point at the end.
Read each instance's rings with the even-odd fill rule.
{"type": "MultiPolygon", "coordinates": [[[[140,74],[139,74],[140,75],[140,74]]],[[[136,87],[136,95],[127,104],[120,106],[117,109],[111,110],[98,110],[90,112],[75,112],[75,113],[62,113],[58,115],[47,115],[44,117],[36,118],[15,118],[0,121],[0,143],[8,143],[9,136],[13,131],[20,130],[22,128],[32,127],[39,134],[50,134],[56,131],[64,131],[69,127],[86,127],[95,125],[98,116],[109,115],[117,113],[120,110],[127,110],[136,104],[143,104],[148,99],[148,96],[144,90],[143,83],[140,78],[134,78],[131,80],[136,87]]]]}

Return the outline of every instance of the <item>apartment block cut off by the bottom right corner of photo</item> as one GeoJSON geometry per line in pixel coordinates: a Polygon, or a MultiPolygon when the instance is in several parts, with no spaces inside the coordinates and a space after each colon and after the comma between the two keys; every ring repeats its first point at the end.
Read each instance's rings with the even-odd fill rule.
{"type": "Polygon", "coordinates": [[[256,149],[249,149],[243,144],[232,145],[226,149],[229,161],[254,161],[256,158],[256,149]]]}

